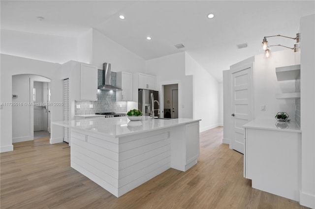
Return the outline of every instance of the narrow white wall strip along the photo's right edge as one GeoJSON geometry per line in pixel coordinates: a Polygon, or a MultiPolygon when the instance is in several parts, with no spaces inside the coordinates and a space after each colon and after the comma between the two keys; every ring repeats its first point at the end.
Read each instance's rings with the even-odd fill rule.
{"type": "Polygon", "coordinates": [[[300,204],[315,208],[315,15],[301,18],[302,182],[300,204]]]}

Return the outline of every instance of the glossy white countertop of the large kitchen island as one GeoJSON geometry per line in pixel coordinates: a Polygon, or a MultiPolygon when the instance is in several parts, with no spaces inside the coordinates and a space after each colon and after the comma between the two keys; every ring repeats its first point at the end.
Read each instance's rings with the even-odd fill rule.
{"type": "Polygon", "coordinates": [[[143,116],[140,121],[130,121],[127,117],[95,117],[83,120],[52,122],[52,124],[117,138],[197,121],[200,121],[200,119],[177,118],[163,120],[143,116]]]}

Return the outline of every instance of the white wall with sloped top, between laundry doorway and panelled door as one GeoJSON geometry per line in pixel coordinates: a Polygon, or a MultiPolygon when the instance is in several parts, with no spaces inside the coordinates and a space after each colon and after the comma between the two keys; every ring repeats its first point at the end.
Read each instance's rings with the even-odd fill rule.
{"type": "Polygon", "coordinates": [[[186,72],[193,75],[193,118],[201,119],[200,131],[220,126],[219,83],[188,53],[185,54],[186,72]]]}

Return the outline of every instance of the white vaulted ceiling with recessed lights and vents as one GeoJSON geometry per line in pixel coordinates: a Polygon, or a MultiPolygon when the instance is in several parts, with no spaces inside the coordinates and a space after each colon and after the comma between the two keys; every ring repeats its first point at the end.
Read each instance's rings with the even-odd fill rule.
{"type": "MultiPolygon", "coordinates": [[[[315,0],[1,0],[1,28],[77,37],[93,27],[146,60],[185,50],[221,81],[222,70],[263,53],[264,36],[294,37],[300,18],[314,13],[315,0]],[[209,13],[215,18],[208,19],[209,13]],[[248,47],[237,49],[243,43],[248,47]],[[178,50],[177,44],[185,48],[178,50]]],[[[268,41],[294,45],[280,37],[268,41]]]]}

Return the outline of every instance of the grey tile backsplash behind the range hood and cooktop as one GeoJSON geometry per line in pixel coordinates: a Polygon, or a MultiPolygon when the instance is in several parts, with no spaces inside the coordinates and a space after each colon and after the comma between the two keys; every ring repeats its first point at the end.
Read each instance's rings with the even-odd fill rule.
{"type": "MultiPolygon", "coordinates": [[[[98,69],[97,86],[102,84],[103,71],[98,69]]],[[[116,86],[116,72],[111,72],[111,84],[116,86]]],[[[75,115],[88,115],[97,112],[127,112],[127,102],[116,102],[116,91],[97,90],[97,101],[75,101],[75,106],[80,104],[80,109],[75,108],[75,115]],[[90,108],[93,104],[93,108],[90,108]]]]}

